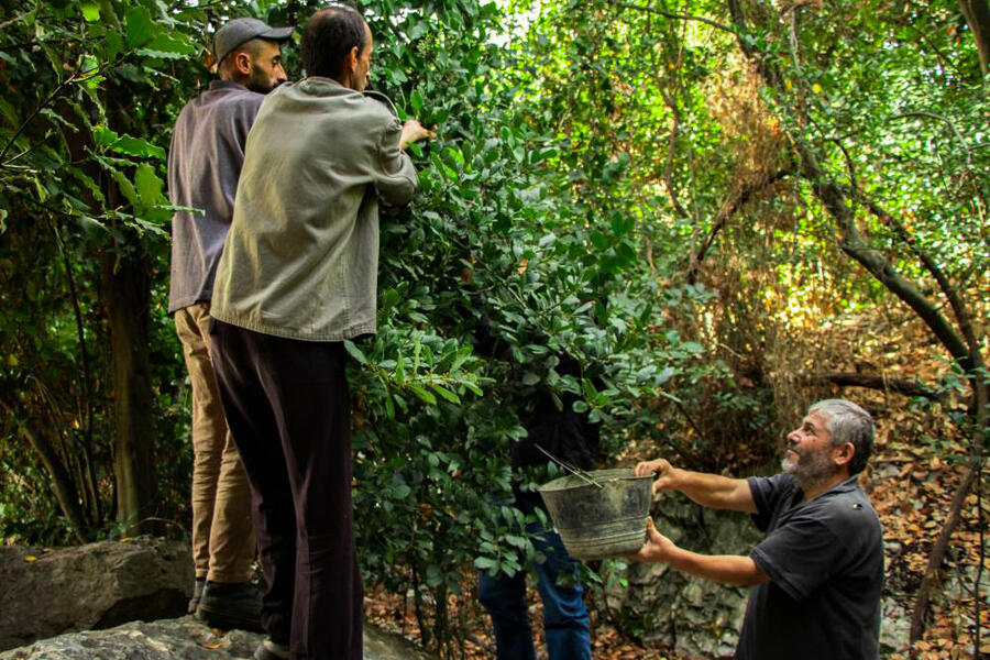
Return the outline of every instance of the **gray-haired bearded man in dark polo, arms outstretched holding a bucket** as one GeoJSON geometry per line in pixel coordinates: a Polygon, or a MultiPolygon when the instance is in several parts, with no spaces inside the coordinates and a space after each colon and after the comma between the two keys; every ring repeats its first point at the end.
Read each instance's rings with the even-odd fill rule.
{"type": "Polygon", "coordinates": [[[880,519],[859,487],[873,446],[873,421],[845,399],[814,404],[788,435],[783,472],[730,479],[658,459],[653,493],[680,491],[710,508],[745,512],[766,532],[748,557],[683,550],[647,521],[632,559],[663,562],[713,582],[756,585],[737,660],[876,660],[883,584],[880,519]]]}

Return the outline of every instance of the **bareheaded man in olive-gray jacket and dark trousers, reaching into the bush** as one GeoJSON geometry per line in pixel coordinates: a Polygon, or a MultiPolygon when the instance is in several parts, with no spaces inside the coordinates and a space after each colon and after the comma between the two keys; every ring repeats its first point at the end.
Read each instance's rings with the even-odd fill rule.
{"type": "Polygon", "coordinates": [[[378,205],[411,200],[403,148],[431,135],[362,94],[371,50],[353,9],[309,20],[308,77],[258,111],[217,271],[217,378],[267,583],[258,660],[362,658],[343,341],[375,332],[378,205]]]}

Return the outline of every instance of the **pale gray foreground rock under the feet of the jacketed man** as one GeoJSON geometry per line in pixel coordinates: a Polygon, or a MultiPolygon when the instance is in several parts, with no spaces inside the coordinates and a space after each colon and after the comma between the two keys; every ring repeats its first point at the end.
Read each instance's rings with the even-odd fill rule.
{"type": "MultiPolygon", "coordinates": [[[[184,616],[61,635],[0,652],[0,660],[249,660],[261,640],[261,635],[242,630],[218,637],[191,616],[184,616]]],[[[364,658],[436,660],[407,639],[373,626],[365,626],[364,658]]]]}

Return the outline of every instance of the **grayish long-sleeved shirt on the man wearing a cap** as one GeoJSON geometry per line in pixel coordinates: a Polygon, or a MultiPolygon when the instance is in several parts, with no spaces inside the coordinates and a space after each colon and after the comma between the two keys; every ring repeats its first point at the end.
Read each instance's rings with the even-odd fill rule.
{"type": "Polygon", "coordinates": [[[217,263],[233,218],[244,145],[265,96],[213,80],[179,113],[168,152],[168,197],[196,211],[172,219],[168,312],[213,295],[217,263]]]}

